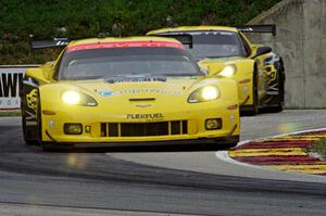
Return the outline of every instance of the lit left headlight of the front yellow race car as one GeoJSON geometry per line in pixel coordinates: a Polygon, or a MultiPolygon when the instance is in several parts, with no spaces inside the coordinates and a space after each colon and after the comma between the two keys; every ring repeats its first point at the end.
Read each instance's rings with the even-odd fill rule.
{"type": "Polygon", "coordinates": [[[70,105],[96,106],[98,104],[90,96],[75,90],[63,91],[61,100],[70,105]]]}

